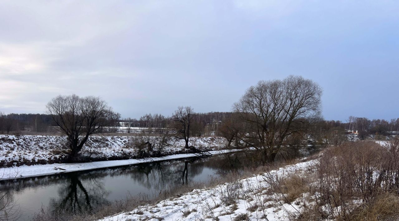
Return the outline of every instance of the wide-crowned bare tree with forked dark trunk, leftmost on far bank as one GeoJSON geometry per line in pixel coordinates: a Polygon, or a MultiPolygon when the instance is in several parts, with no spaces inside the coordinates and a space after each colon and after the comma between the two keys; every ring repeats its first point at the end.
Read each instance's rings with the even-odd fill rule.
{"type": "Polygon", "coordinates": [[[115,112],[99,97],[75,94],[57,96],[46,106],[47,113],[67,135],[71,157],[77,156],[90,135],[99,134],[110,126],[115,112]]]}

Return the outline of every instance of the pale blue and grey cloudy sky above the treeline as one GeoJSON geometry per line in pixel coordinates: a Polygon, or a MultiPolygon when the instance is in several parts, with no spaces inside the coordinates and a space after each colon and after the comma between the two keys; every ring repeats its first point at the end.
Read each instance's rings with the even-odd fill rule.
{"type": "Polygon", "coordinates": [[[398,1],[0,0],[0,111],[100,96],[122,117],[231,111],[301,75],[325,119],[399,117],[398,1]]]}

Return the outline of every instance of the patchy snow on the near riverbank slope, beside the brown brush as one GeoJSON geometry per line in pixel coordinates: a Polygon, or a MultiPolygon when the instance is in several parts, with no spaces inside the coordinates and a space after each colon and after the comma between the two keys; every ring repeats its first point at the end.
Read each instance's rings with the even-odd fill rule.
{"type": "Polygon", "coordinates": [[[311,170],[315,163],[316,160],[310,160],[215,188],[193,190],[179,198],[140,206],[134,211],[105,217],[100,221],[292,220],[292,215],[298,215],[304,202],[298,199],[291,203],[279,201],[275,197],[276,193],[268,192],[270,185],[267,177],[301,174],[311,170]]]}

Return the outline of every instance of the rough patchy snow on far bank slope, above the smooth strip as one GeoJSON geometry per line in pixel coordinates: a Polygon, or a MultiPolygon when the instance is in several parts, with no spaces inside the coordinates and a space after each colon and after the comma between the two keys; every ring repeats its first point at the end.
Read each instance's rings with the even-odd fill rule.
{"type": "MultiPolygon", "coordinates": [[[[150,139],[157,148],[159,137],[89,137],[81,150],[81,156],[90,160],[118,160],[136,158],[137,145],[150,139]]],[[[26,164],[46,164],[62,162],[68,156],[64,136],[33,136],[33,135],[0,135],[0,165],[16,166],[26,164]]],[[[200,149],[218,150],[226,145],[222,137],[192,137],[190,145],[200,149]]],[[[184,149],[184,140],[171,138],[168,145],[162,149],[163,155],[170,155],[184,149]]]]}

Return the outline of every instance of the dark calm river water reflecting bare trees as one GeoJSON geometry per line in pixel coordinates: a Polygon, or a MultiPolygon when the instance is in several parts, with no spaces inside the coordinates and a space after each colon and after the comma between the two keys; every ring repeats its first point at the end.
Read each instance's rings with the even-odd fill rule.
{"type": "Polygon", "coordinates": [[[206,182],[242,168],[243,153],[184,158],[118,166],[0,182],[0,190],[20,208],[20,220],[30,220],[43,207],[47,211],[95,211],[126,196],[160,191],[191,182],[206,182]]]}

